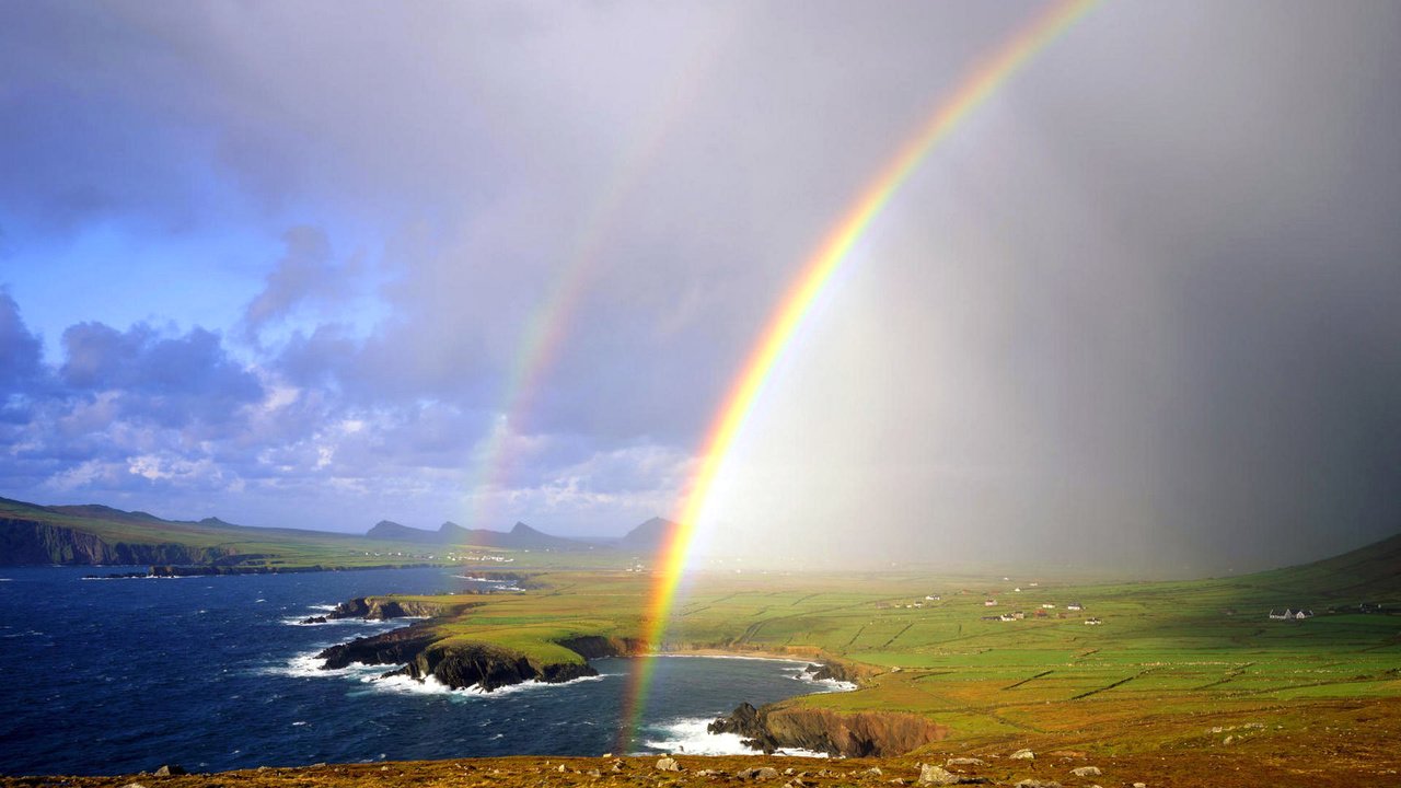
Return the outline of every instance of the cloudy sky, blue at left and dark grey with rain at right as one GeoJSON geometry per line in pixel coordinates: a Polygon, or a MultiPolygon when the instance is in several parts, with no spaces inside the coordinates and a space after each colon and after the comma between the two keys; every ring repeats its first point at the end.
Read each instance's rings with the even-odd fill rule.
{"type": "MultiPolygon", "coordinates": [[[[0,0],[0,495],[672,513],[804,261],[1041,8],[0,0]]],[[[1395,31],[1091,10],[862,237],[702,550],[1209,573],[1394,534],[1395,31]]]]}

